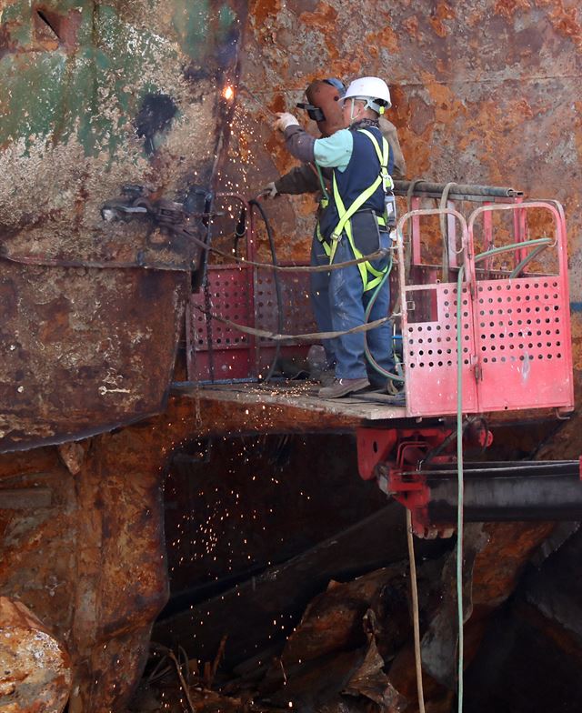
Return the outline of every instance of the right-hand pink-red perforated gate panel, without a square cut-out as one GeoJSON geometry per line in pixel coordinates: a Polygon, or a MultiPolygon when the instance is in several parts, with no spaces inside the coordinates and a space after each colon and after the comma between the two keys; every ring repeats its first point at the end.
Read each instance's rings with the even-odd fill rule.
{"type": "Polygon", "coordinates": [[[568,402],[564,296],[557,277],[477,283],[481,411],[554,407],[568,402]]]}

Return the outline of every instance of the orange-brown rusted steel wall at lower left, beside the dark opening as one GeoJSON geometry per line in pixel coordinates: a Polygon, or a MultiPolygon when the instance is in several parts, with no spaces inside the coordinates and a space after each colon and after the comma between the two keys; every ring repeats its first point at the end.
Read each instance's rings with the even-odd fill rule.
{"type": "Polygon", "coordinates": [[[185,423],[172,432],[166,415],[83,441],[74,452],[47,447],[0,457],[0,594],[17,593],[66,641],[71,711],[123,708],[146,662],[167,598],[166,450],[185,423]],[[9,509],[5,488],[13,493],[9,509]],[[35,498],[39,489],[50,500],[35,498]]]}

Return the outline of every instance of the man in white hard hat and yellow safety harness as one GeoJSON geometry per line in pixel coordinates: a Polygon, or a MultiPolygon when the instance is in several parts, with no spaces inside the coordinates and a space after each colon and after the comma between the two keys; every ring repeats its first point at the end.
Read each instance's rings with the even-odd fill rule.
{"type": "MultiPolygon", "coordinates": [[[[315,139],[289,113],[278,114],[276,128],[286,138],[286,146],[301,161],[315,163],[332,172],[329,205],[319,219],[319,229],[329,262],[343,263],[388,248],[387,227],[394,217],[390,171],[390,147],[379,129],[379,117],[391,106],[390,92],[378,77],[356,79],[343,97],[347,129],[333,136],[315,139]],[[390,199],[391,196],[391,199],[390,199]]],[[[366,307],[374,296],[369,321],[385,318],[389,306],[389,286],[384,280],[387,257],[330,272],[329,306],[334,331],[346,332],[366,321],[366,307]],[[376,289],[377,288],[377,289],[376,289]]],[[[388,323],[367,332],[367,342],[382,372],[394,372],[392,335],[388,323]]],[[[364,334],[345,334],[336,340],[336,378],[319,390],[326,398],[345,397],[372,386],[386,386],[366,362],[364,334]],[[370,381],[371,379],[371,381],[370,381]]]]}

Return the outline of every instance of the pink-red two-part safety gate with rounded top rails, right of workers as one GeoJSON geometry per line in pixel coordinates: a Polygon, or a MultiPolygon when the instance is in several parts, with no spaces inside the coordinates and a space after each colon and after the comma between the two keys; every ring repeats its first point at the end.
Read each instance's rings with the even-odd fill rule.
{"type": "MultiPolygon", "coordinates": [[[[467,222],[451,208],[416,210],[401,218],[400,230],[408,220],[442,213],[454,216],[462,228],[467,279],[461,293],[461,330],[457,336],[457,282],[410,285],[406,284],[406,272],[400,272],[407,415],[457,412],[457,346],[462,349],[464,413],[571,409],[566,221],[561,206],[541,201],[479,206],[467,222]],[[547,211],[553,218],[553,242],[547,249],[556,251],[556,274],[520,276],[519,266],[528,252],[526,214],[533,210],[547,211]],[[474,234],[476,221],[483,216],[485,250],[480,252],[491,249],[491,214],[495,211],[516,212],[517,231],[512,240],[514,245],[524,246],[507,250],[516,263],[513,270],[494,275],[486,261],[476,262],[474,234]]],[[[400,264],[404,265],[402,241],[399,249],[400,264]]],[[[450,267],[458,272],[455,266],[450,267]]]]}

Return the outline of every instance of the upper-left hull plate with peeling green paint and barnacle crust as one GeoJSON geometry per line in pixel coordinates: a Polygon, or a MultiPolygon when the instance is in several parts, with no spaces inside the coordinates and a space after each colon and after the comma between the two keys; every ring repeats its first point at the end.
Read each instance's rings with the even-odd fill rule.
{"type": "Polygon", "coordinates": [[[239,11],[228,2],[3,4],[0,226],[9,246],[115,261],[128,231],[103,226],[99,207],[122,184],[170,193],[197,175],[210,181],[239,11]]]}

